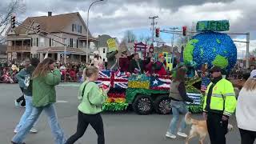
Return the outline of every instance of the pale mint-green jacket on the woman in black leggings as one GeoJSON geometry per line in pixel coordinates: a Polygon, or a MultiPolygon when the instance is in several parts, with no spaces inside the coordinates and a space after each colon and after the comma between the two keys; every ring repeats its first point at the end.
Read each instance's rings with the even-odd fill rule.
{"type": "Polygon", "coordinates": [[[99,89],[95,82],[83,82],[78,92],[78,100],[81,101],[78,110],[83,114],[98,114],[102,112],[102,104],[105,99],[106,94],[99,89]],[[82,90],[85,85],[86,88],[82,97],[82,90]]]}

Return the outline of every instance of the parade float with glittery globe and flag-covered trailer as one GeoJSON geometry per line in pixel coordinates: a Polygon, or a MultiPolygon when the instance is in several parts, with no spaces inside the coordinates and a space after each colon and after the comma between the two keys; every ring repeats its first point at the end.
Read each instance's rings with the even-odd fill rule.
{"type": "MultiPolygon", "coordinates": [[[[209,78],[208,81],[207,78],[198,78],[194,71],[206,65],[220,66],[228,72],[236,62],[237,50],[234,42],[227,34],[216,32],[228,29],[228,21],[198,22],[197,30],[200,33],[194,35],[184,49],[183,58],[189,76],[186,90],[188,96],[194,99],[194,103],[187,103],[187,106],[193,113],[202,112],[204,97],[200,88],[196,88],[194,84],[202,81],[202,84],[207,85],[210,82],[209,78]]],[[[136,46],[138,45],[135,45],[134,49],[138,50],[136,46]]],[[[139,50],[142,50],[144,55],[146,46],[139,50]]],[[[103,110],[126,110],[130,105],[138,114],[150,114],[153,111],[158,114],[169,114],[171,112],[170,79],[170,75],[130,74],[118,70],[101,71],[97,81],[98,86],[108,85],[111,88],[103,110]]]]}

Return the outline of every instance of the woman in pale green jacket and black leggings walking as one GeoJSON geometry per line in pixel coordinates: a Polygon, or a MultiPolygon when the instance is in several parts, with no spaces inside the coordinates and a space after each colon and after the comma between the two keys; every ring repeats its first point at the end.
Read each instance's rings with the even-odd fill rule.
{"type": "Polygon", "coordinates": [[[67,141],[66,144],[73,144],[86,132],[87,126],[90,124],[98,134],[98,144],[104,144],[104,130],[102,122],[102,104],[105,102],[106,94],[110,88],[98,87],[95,81],[98,79],[98,68],[89,66],[84,70],[84,78],[79,89],[78,100],[81,101],[78,106],[78,126],[77,131],[67,141]]]}

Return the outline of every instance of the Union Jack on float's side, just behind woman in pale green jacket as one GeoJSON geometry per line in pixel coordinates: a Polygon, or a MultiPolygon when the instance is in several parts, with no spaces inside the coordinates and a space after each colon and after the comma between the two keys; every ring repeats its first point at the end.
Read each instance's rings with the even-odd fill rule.
{"type": "Polygon", "coordinates": [[[98,81],[96,82],[98,86],[109,85],[112,88],[128,88],[128,76],[125,72],[116,72],[106,70],[100,71],[98,76],[98,81]]]}

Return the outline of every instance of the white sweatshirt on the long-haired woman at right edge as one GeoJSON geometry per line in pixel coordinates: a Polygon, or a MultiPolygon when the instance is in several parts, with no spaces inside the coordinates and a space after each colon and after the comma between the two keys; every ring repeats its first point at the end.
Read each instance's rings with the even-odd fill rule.
{"type": "Polygon", "coordinates": [[[242,88],[236,109],[238,128],[256,131],[256,90],[242,88]]]}

